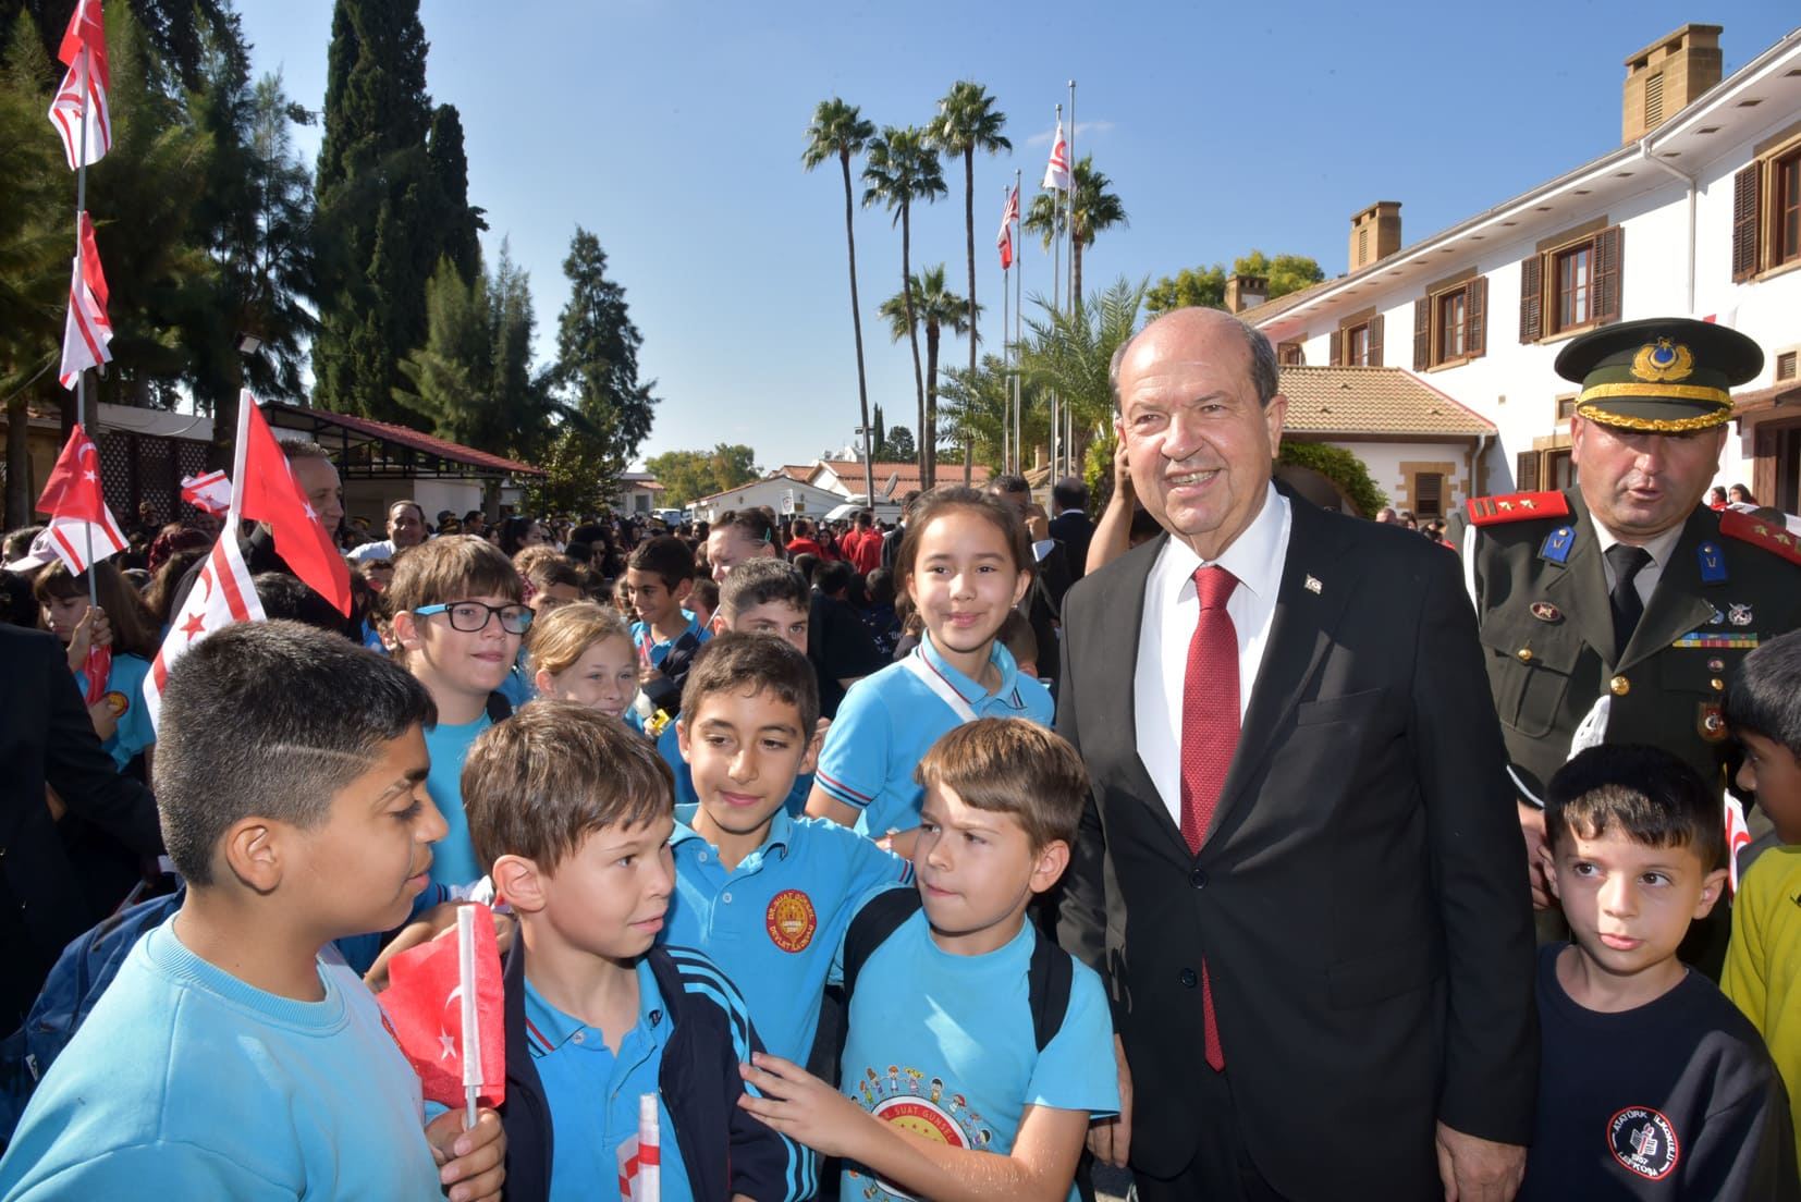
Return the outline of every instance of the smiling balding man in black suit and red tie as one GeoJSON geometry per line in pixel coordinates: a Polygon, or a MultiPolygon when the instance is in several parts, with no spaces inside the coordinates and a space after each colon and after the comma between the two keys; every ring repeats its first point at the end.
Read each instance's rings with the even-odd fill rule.
{"type": "Polygon", "coordinates": [[[1509,1198],[1531,906],[1457,560],[1273,488],[1288,402],[1237,319],[1154,321],[1115,389],[1167,533],[1064,611],[1093,795],[1059,935],[1136,1092],[1090,1146],[1145,1202],[1509,1198]]]}

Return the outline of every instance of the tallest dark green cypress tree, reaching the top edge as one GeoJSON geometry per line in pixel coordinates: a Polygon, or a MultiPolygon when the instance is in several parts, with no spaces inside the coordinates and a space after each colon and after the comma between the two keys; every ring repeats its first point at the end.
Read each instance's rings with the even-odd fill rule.
{"type": "Polygon", "coordinates": [[[411,416],[394,389],[405,387],[400,360],[427,341],[438,258],[448,252],[465,279],[479,270],[463,128],[456,110],[432,110],[427,49],[418,0],[337,0],[317,173],[313,400],[389,422],[411,416]]]}

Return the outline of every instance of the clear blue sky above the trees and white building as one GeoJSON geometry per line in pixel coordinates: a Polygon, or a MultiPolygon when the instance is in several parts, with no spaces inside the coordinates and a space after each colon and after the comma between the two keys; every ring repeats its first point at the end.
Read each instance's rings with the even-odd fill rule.
{"type": "MultiPolygon", "coordinates": [[[[328,0],[240,0],[258,72],[324,101],[328,0]]],[[[818,101],[924,124],[956,79],[987,85],[1012,155],[976,160],[976,299],[998,348],[992,241],[1018,168],[1045,171],[1054,106],[1077,81],[1075,153],[1093,153],[1131,225],[1084,256],[1093,292],[1257,247],[1345,270],[1351,214],[1399,200],[1414,241],[1619,141],[1625,58],[1684,22],[1725,27],[1731,74],[1801,22],[1792,0],[1520,0],[1511,5],[742,4],[423,0],[432,99],[463,114],[470,200],[531,274],[538,353],[593,231],[643,332],[663,404],[645,454],[746,443],[760,465],[850,442],[855,350],[836,164],[800,166],[818,101]],[[1030,20],[1027,20],[1030,16],[1030,20]]],[[[312,162],[315,130],[299,132],[312,162]]],[[[913,220],[913,270],[967,288],[962,164],[913,220]]],[[[857,184],[861,198],[861,184],[857,184]]],[[[1050,256],[1023,254],[1030,294],[1050,256]]],[[[875,306],[900,287],[900,234],[857,213],[870,402],[913,427],[906,342],[875,306]]],[[[949,362],[967,344],[946,339],[949,362]]],[[[917,431],[915,431],[917,433],[917,431]]]]}

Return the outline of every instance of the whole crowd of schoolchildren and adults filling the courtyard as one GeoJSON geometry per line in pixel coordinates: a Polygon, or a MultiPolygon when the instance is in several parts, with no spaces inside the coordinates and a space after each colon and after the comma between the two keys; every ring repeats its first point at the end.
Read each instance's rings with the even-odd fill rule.
{"type": "Polygon", "coordinates": [[[647,1096],[666,1198],[1801,1197],[1801,553],[1704,505],[1697,326],[1572,342],[1579,487],[1448,532],[1277,487],[1272,348],[1178,310],[1099,521],[375,530],[285,443],[351,609],[231,532],[268,622],[155,724],[220,532],[9,578],[0,1198],[611,1197],[647,1096]],[[474,901],[470,1121],[380,991],[474,901]]]}

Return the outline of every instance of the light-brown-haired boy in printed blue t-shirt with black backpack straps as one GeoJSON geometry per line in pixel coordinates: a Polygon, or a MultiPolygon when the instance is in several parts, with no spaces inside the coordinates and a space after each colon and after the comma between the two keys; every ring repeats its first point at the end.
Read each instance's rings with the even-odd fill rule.
{"type": "Polygon", "coordinates": [[[1039,950],[1027,908],[1068,865],[1088,773],[1043,726],[985,717],[933,744],[917,779],[920,908],[861,964],[845,1094],[758,1056],[744,1078],[764,1096],[740,1105],[843,1157],[846,1200],[1075,1198],[1088,1123],[1118,1110],[1113,1025],[1100,979],[1039,950]],[[1039,957],[1068,970],[1043,1031],[1039,957]]]}

